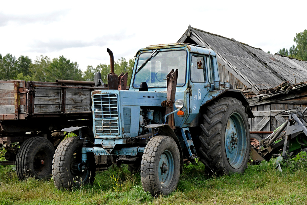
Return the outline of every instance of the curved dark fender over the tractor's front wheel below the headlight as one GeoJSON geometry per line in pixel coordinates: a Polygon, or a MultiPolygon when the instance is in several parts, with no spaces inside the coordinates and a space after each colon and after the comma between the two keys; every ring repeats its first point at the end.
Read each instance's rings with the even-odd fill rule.
{"type": "Polygon", "coordinates": [[[179,143],[179,139],[173,129],[168,124],[149,124],[145,126],[146,128],[158,128],[160,135],[165,135],[173,138],[177,144],[180,153],[180,174],[182,174],[183,167],[183,153],[179,143]]]}

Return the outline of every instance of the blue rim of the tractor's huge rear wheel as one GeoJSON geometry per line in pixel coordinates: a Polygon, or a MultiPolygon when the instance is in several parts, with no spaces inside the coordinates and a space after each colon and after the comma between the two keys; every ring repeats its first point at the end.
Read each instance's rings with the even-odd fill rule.
{"type": "Polygon", "coordinates": [[[228,118],[225,131],[225,150],[231,167],[235,169],[241,167],[246,149],[247,137],[244,121],[238,112],[234,112],[228,118]]]}

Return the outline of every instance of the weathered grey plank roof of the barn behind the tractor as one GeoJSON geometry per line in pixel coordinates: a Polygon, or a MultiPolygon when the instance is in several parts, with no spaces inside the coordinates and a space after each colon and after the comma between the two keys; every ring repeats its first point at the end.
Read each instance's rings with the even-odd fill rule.
{"type": "Polygon", "coordinates": [[[279,54],[270,54],[260,48],[217,34],[188,27],[177,42],[203,45],[216,52],[218,61],[254,91],[272,89],[289,81],[290,84],[307,81],[307,62],[279,54]]]}

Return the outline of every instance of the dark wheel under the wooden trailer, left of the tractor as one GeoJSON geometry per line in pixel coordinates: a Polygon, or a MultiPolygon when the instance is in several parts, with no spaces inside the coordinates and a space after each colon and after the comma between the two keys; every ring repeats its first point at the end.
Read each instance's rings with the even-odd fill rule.
{"type": "Polygon", "coordinates": [[[54,147],[47,138],[37,136],[25,140],[16,157],[18,178],[49,179],[53,154],[54,147]]]}

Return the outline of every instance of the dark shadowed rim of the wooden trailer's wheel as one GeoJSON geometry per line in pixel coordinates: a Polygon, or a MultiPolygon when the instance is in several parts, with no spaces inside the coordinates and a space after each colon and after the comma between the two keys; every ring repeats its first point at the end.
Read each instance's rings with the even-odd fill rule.
{"type": "Polygon", "coordinates": [[[51,167],[51,161],[52,160],[50,159],[49,155],[44,150],[39,150],[35,154],[33,161],[33,167],[36,175],[45,175],[51,167]]]}

